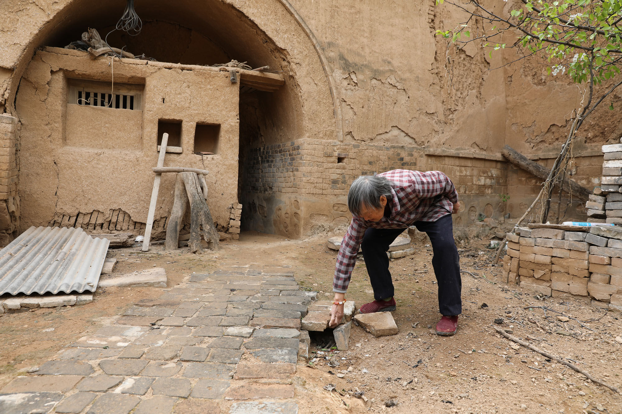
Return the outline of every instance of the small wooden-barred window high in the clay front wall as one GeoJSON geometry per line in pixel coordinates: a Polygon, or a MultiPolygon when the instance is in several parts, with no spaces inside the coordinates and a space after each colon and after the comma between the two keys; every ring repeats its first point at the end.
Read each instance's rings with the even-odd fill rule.
{"type": "Polygon", "coordinates": [[[142,85],[69,80],[67,103],[111,109],[141,110],[142,85]]]}

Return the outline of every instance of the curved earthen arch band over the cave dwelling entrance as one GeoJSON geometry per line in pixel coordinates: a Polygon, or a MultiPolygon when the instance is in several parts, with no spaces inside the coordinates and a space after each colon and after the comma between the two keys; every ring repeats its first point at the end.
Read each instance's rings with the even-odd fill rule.
{"type": "MultiPolygon", "coordinates": [[[[13,7],[18,7],[19,2],[12,3],[13,7]]],[[[38,24],[37,27],[18,27],[19,22],[15,22],[16,27],[4,31],[12,41],[4,42],[9,46],[0,57],[0,68],[4,69],[0,75],[8,84],[4,91],[4,111],[13,115],[16,115],[14,99],[19,81],[37,48],[49,45],[53,40],[62,43],[60,34],[67,32],[68,27],[75,28],[75,35],[79,36],[86,27],[95,26],[94,21],[106,20],[106,26],[114,24],[125,4],[122,0],[61,0],[42,6],[39,3],[30,3],[25,9],[19,5],[22,16],[32,16],[29,24],[38,24]]],[[[301,103],[298,108],[300,126],[297,138],[341,140],[341,110],[328,62],[315,36],[287,0],[162,0],[149,2],[149,9],[146,6],[141,9],[140,3],[136,7],[147,21],[161,19],[185,24],[194,30],[198,28],[198,31],[205,29],[208,37],[216,43],[229,42],[231,45],[241,39],[237,50],[246,48],[244,51],[250,53],[249,48],[255,47],[253,52],[261,52],[261,44],[253,45],[251,37],[267,44],[263,52],[269,47],[276,48],[281,54],[279,58],[287,63],[283,70],[291,78],[290,85],[297,89],[300,101],[305,101],[305,105],[301,103]]],[[[0,82],[2,80],[0,78],[0,82]]]]}

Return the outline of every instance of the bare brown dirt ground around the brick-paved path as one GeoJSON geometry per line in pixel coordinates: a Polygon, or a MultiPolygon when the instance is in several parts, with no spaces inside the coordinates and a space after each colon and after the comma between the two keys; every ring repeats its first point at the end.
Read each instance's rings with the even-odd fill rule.
{"type": "MultiPolygon", "coordinates": [[[[154,246],[146,253],[139,247],[111,249],[108,257],[119,260],[113,275],[154,265],[164,267],[169,287],[192,272],[217,267],[285,265],[294,270],[302,286],[320,292],[318,298],[331,298],[337,252],[327,249],[326,239],[335,235],[291,241],[247,232],[239,241],[221,242],[220,251],[203,255],[190,254],[187,249],[164,252],[162,246],[154,246]]],[[[448,338],[430,329],[440,318],[431,247],[422,242],[415,255],[393,260],[390,269],[398,303],[393,315],[399,333],[374,338],[353,326],[349,351],[322,351],[313,346],[310,364],[299,364],[292,380],[300,412],[622,413],[620,395],[517,346],[491,328],[513,331],[514,336],[566,357],[622,389],[622,344],[615,341],[622,335],[621,315],[588,306],[582,298],[542,298],[505,285],[501,265],[491,265],[494,252],[486,249],[486,244],[459,244],[462,270],[470,274],[462,274],[463,315],[458,333],[448,338]],[[561,313],[582,322],[559,321],[561,313]],[[494,323],[499,318],[503,322],[494,323]]],[[[53,357],[65,344],[95,332],[131,303],[157,297],[161,291],[98,289],[88,305],[0,315],[0,388],[21,370],[53,357]]],[[[355,300],[357,307],[373,300],[362,260],[356,264],[346,298],[355,300]]],[[[317,343],[324,345],[322,339],[317,343]]]]}

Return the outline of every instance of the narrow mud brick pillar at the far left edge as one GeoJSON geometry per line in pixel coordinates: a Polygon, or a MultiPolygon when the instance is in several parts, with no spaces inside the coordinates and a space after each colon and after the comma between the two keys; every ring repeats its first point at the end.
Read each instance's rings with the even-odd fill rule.
{"type": "Polygon", "coordinates": [[[0,115],[0,246],[12,241],[19,224],[19,122],[7,114],[0,115]]]}

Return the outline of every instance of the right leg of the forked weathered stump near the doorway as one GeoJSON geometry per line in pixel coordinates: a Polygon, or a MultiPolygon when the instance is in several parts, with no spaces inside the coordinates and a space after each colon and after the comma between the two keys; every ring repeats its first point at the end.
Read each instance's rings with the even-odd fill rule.
{"type": "Polygon", "coordinates": [[[210,208],[207,206],[203,192],[201,191],[197,174],[182,172],[183,184],[186,188],[188,200],[190,200],[190,240],[188,246],[192,252],[203,252],[201,236],[207,242],[208,249],[218,249],[218,232],[214,228],[210,208]]]}

